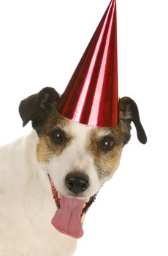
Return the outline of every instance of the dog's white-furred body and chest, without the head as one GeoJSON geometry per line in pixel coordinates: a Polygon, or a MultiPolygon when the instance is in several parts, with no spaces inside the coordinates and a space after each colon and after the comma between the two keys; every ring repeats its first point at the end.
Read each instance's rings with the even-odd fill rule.
{"type": "Polygon", "coordinates": [[[38,137],[0,148],[0,255],[71,256],[76,240],[59,233],[51,219],[56,204],[37,162],[38,137]]]}

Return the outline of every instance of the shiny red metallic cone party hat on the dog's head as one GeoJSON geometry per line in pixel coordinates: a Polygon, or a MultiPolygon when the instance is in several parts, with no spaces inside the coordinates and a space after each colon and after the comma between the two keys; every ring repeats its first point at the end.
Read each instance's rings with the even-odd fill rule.
{"type": "Polygon", "coordinates": [[[118,125],[116,1],[110,1],[58,104],[62,116],[93,127],[118,125]]]}

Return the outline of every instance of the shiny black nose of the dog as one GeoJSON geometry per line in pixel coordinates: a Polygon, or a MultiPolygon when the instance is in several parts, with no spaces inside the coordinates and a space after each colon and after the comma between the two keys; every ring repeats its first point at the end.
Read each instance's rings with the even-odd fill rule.
{"type": "Polygon", "coordinates": [[[75,195],[88,189],[89,178],[83,173],[69,173],[65,178],[66,187],[75,195]]]}

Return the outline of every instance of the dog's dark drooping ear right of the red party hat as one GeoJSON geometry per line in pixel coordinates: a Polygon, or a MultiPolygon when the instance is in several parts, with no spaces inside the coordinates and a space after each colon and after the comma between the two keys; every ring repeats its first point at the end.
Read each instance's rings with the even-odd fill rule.
{"type": "Polygon", "coordinates": [[[126,121],[133,121],[134,126],[137,129],[137,138],[140,140],[141,143],[145,144],[147,142],[147,137],[145,134],[145,130],[142,127],[140,122],[140,115],[137,108],[137,104],[134,102],[133,99],[129,97],[123,97],[120,99],[119,102],[119,109],[121,113],[121,118],[126,121]]]}

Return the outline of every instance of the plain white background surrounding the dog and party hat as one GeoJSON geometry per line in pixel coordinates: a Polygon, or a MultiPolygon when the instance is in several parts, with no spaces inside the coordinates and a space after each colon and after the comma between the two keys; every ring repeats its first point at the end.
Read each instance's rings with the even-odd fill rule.
{"type": "MultiPolygon", "coordinates": [[[[108,4],[0,1],[0,145],[31,130],[22,128],[21,99],[45,86],[64,91],[108,4]]],[[[137,102],[148,144],[133,128],[75,256],[168,255],[167,8],[167,0],[118,0],[119,95],[137,102]]]]}

